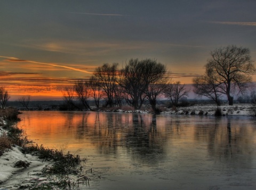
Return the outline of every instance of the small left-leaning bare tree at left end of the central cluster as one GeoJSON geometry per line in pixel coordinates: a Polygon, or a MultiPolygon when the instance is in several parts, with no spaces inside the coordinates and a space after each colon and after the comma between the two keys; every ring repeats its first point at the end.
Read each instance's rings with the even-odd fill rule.
{"type": "Polygon", "coordinates": [[[75,103],[76,92],[74,90],[74,86],[65,87],[65,90],[62,91],[62,94],[63,94],[63,100],[65,101],[69,109],[73,110],[76,108],[78,110],[82,110],[75,103]]]}

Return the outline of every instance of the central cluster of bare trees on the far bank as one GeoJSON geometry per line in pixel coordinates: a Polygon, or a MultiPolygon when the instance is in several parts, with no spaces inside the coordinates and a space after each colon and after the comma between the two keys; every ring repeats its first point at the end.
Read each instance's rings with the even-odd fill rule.
{"type": "Polygon", "coordinates": [[[147,100],[157,113],[159,96],[165,96],[177,105],[179,99],[188,96],[189,92],[180,82],[171,83],[166,73],[165,65],[155,59],[130,59],[121,70],[118,70],[117,63],[103,64],[95,68],[89,80],[66,87],[63,99],[71,108],[78,108],[74,102],[77,99],[90,110],[91,99],[97,107],[103,99],[105,107],[122,106],[125,101],[134,109],[140,109],[147,100]]]}

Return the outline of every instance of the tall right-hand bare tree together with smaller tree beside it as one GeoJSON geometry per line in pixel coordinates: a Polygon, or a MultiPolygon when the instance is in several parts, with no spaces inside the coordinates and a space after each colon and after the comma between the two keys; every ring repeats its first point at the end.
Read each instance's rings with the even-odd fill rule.
{"type": "Polygon", "coordinates": [[[205,74],[193,79],[194,92],[205,96],[220,105],[220,98],[226,96],[233,105],[232,94],[244,93],[255,74],[248,48],[234,45],[215,49],[205,65],[205,74]]]}

